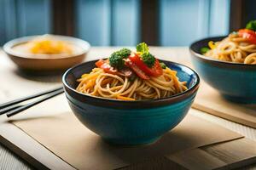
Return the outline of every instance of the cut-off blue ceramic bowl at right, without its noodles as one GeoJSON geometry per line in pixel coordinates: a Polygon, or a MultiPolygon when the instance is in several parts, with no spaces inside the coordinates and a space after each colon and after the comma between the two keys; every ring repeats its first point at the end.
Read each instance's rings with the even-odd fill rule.
{"type": "Polygon", "coordinates": [[[256,65],[246,65],[212,59],[201,55],[200,49],[209,41],[220,41],[224,37],[209,37],[190,45],[195,70],[212,88],[225,99],[236,103],[256,103],[256,65]]]}

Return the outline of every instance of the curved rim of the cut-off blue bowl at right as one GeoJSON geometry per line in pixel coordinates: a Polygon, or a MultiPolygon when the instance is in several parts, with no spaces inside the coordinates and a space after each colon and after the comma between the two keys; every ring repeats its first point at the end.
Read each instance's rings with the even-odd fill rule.
{"type": "MultiPolygon", "coordinates": [[[[207,57],[203,54],[199,54],[199,53],[195,52],[195,50],[193,49],[193,46],[195,46],[196,44],[201,43],[203,41],[212,41],[212,39],[220,39],[220,38],[224,38],[224,37],[227,37],[227,36],[206,37],[206,38],[202,38],[200,40],[197,40],[195,42],[192,42],[189,46],[189,52],[190,52],[190,54],[193,54],[194,57],[197,57],[197,58],[202,59],[204,61],[208,61],[210,63],[218,64],[218,65],[230,65],[230,66],[256,68],[256,65],[235,63],[235,62],[231,62],[231,61],[222,61],[222,60],[219,60],[219,59],[213,59],[213,58],[207,57]]],[[[201,47],[201,48],[203,48],[203,47],[201,47]]]]}

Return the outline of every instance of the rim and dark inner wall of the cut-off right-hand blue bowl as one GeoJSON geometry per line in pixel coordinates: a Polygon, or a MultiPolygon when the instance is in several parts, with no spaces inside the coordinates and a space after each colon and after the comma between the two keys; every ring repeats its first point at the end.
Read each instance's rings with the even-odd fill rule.
{"type": "Polygon", "coordinates": [[[193,42],[189,46],[189,52],[192,54],[192,56],[195,59],[201,60],[207,64],[217,66],[220,68],[231,68],[231,69],[241,69],[241,70],[249,70],[249,71],[256,71],[256,65],[248,65],[248,64],[242,64],[242,63],[234,63],[230,61],[222,61],[218,59],[213,59],[207,56],[204,56],[200,53],[200,49],[203,47],[207,47],[207,43],[210,41],[217,42],[220,40],[223,40],[224,37],[227,36],[221,36],[221,37],[207,37],[203,38],[201,40],[193,42]]]}

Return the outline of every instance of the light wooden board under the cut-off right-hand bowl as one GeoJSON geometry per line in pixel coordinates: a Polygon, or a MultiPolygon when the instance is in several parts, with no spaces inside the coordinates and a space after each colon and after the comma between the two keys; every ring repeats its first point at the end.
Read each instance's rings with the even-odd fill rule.
{"type": "Polygon", "coordinates": [[[201,81],[193,108],[232,122],[256,128],[256,105],[242,105],[224,99],[218,91],[201,81]]]}

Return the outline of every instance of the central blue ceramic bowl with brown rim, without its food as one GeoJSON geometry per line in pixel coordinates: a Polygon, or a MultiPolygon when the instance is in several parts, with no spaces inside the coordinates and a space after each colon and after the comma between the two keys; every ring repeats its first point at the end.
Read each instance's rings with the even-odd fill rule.
{"type": "Polygon", "coordinates": [[[181,81],[187,81],[188,90],[165,99],[122,101],[104,99],[79,93],[76,80],[95,67],[90,61],[77,65],[63,75],[68,103],[79,121],[112,144],[153,143],[186,116],[195,99],[200,79],[189,67],[164,61],[177,71],[181,81]]]}

